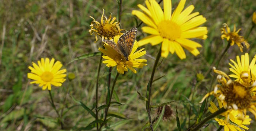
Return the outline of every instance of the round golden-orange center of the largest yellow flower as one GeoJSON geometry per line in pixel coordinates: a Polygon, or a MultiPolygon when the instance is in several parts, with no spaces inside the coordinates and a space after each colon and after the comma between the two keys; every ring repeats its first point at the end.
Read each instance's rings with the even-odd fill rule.
{"type": "Polygon", "coordinates": [[[173,21],[163,20],[159,22],[157,28],[160,36],[162,36],[163,38],[167,38],[171,41],[174,41],[181,36],[180,25],[176,24],[173,21]]]}

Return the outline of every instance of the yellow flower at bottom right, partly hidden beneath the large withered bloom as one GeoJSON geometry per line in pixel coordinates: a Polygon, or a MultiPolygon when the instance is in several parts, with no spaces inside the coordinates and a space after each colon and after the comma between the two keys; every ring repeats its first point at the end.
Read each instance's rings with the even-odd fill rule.
{"type": "MultiPolygon", "coordinates": [[[[222,108],[222,103],[219,102],[219,108],[222,108]]],[[[210,110],[211,113],[214,113],[215,111],[219,110],[219,108],[213,103],[210,102],[210,107],[208,107],[208,110],[210,110]]],[[[226,120],[224,119],[220,119],[220,118],[215,118],[215,120],[219,123],[219,125],[224,126],[224,131],[244,131],[248,130],[249,128],[246,127],[245,125],[249,125],[251,124],[251,118],[249,118],[248,115],[245,116],[245,119],[239,120],[238,119],[238,111],[235,110],[231,110],[231,111],[226,111],[224,113],[221,114],[222,116],[225,116],[226,120]],[[229,122],[229,120],[227,120],[227,118],[229,118],[229,120],[231,120],[231,122],[229,122]],[[242,129],[242,128],[244,129],[242,129]]]]}

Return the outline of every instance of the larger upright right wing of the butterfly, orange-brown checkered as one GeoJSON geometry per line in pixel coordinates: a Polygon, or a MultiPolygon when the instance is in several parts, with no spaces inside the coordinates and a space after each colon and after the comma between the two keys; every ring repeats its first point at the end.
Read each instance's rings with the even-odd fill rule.
{"type": "Polygon", "coordinates": [[[129,56],[132,52],[132,47],[136,39],[137,31],[138,29],[133,27],[119,38],[117,46],[119,47],[120,51],[125,52],[124,56],[129,56]]]}

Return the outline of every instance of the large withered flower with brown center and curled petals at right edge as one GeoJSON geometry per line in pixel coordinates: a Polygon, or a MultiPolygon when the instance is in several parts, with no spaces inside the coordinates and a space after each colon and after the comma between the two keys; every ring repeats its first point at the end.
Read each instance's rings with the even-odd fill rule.
{"type": "Polygon", "coordinates": [[[215,73],[219,74],[217,76],[218,82],[214,87],[214,91],[207,93],[202,101],[206,99],[209,95],[214,95],[217,100],[219,100],[225,109],[237,110],[238,119],[244,120],[246,117],[246,111],[250,111],[256,118],[256,96],[253,93],[253,90],[256,89],[252,85],[244,86],[243,83],[239,81],[233,81],[222,71],[213,69],[215,73]]]}

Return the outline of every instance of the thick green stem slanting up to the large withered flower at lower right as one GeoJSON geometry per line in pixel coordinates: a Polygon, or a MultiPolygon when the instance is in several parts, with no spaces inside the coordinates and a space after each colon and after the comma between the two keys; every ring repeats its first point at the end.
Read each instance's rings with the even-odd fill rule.
{"type": "Polygon", "coordinates": [[[218,116],[219,114],[222,114],[223,112],[227,111],[227,109],[225,109],[224,107],[220,108],[218,111],[215,111],[214,113],[212,113],[211,115],[207,116],[206,118],[204,118],[200,123],[198,123],[196,125],[195,128],[193,128],[191,131],[197,131],[199,130],[200,127],[202,127],[206,122],[208,122],[210,119],[215,118],[216,116],[218,116]]]}

